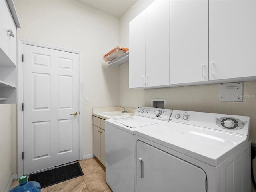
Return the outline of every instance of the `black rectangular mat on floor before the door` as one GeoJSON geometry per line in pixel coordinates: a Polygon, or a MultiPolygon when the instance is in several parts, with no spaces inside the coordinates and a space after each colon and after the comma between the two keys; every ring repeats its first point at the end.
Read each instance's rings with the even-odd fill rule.
{"type": "Polygon", "coordinates": [[[41,188],[84,175],[79,162],[31,174],[28,181],[37,181],[41,188]]]}

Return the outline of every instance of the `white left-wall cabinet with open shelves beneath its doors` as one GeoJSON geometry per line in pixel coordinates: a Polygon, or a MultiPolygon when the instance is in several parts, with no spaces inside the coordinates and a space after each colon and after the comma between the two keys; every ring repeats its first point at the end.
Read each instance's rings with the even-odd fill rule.
{"type": "Polygon", "coordinates": [[[16,26],[13,1],[0,0],[0,103],[17,101],[16,26]]]}

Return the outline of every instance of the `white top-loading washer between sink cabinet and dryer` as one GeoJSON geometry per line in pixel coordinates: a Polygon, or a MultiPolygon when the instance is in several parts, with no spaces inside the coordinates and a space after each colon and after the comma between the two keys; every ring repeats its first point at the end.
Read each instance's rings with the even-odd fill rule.
{"type": "Polygon", "coordinates": [[[113,192],[134,192],[134,130],[168,124],[172,110],[138,107],[133,117],[105,121],[106,182],[113,192]]]}

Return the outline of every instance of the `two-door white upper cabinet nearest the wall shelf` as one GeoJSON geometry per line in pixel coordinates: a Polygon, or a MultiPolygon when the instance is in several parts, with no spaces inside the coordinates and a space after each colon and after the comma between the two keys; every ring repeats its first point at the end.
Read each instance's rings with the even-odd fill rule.
{"type": "Polygon", "coordinates": [[[170,2],[157,0],[130,22],[129,88],[169,85],[170,2]]]}

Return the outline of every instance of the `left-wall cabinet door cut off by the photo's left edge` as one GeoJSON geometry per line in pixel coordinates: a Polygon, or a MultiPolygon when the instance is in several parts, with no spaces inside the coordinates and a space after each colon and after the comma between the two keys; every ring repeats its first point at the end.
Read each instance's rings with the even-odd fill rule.
{"type": "Polygon", "coordinates": [[[0,0],[0,47],[8,55],[9,53],[9,8],[5,0],[0,0]]]}

